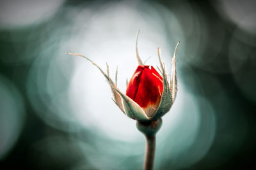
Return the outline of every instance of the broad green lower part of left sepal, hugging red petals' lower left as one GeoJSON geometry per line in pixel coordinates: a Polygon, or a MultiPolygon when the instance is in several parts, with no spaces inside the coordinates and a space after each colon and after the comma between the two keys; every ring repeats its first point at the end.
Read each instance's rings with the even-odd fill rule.
{"type": "Polygon", "coordinates": [[[134,102],[130,97],[126,96],[120,90],[116,89],[116,91],[120,94],[120,96],[123,99],[122,101],[124,105],[125,115],[127,115],[127,117],[139,120],[141,122],[146,122],[149,120],[146,113],[140,107],[139,104],[134,102]]]}

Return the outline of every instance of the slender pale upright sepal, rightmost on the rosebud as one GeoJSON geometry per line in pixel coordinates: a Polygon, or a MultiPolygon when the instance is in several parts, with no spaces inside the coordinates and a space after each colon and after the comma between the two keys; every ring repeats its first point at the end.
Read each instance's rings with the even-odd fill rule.
{"type": "Polygon", "coordinates": [[[172,102],[174,102],[177,94],[176,55],[177,55],[179,44],[180,44],[180,41],[176,45],[173,58],[172,58],[172,72],[171,72],[171,81],[170,81],[170,90],[172,92],[172,102]]]}

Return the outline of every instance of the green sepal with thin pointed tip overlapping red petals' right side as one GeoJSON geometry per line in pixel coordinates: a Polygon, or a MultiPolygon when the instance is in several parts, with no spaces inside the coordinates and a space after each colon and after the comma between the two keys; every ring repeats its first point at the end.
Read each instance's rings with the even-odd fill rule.
{"type": "Polygon", "coordinates": [[[173,103],[172,102],[172,93],[170,91],[168,80],[167,80],[166,73],[165,73],[165,69],[163,66],[163,62],[161,60],[160,48],[158,48],[158,57],[159,57],[159,62],[160,62],[160,66],[161,66],[161,73],[163,75],[163,94],[161,97],[159,107],[158,107],[154,117],[152,117],[152,120],[157,120],[157,118],[163,117],[163,115],[170,110],[170,108],[172,107],[172,103],[173,103]]]}

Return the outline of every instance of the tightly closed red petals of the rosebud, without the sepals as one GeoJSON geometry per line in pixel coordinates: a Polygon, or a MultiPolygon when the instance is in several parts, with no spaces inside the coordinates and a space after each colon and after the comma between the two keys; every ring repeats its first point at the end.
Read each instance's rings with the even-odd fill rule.
{"type": "Polygon", "coordinates": [[[152,117],[162,94],[162,76],[153,66],[138,66],[127,85],[126,95],[139,104],[148,117],[152,117]]]}

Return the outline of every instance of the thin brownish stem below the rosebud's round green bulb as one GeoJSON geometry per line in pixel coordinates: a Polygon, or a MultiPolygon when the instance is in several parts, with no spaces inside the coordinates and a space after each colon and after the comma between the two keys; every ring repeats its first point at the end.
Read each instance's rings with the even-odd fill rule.
{"type": "Polygon", "coordinates": [[[154,155],[156,149],[156,136],[145,135],[147,140],[145,160],[144,160],[144,170],[152,170],[154,165],[154,155]]]}

